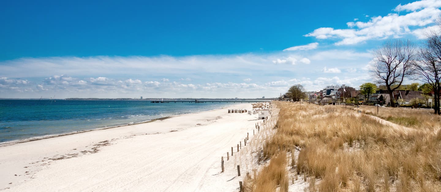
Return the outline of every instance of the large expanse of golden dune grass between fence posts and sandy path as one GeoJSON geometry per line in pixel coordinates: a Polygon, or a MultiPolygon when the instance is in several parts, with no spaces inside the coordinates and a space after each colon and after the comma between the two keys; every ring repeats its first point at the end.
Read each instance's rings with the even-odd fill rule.
{"type": "MultiPolygon", "coordinates": [[[[421,121],[426,116],[418,114],[422,128],[400,131],[339,106],[276,105],[277,132],[263,148],[264,158],[271,162],[247,183],[248,190],[287,191],[285,182],[293,178],[288,175],[300,174],[310,182],[309,191],[441,191],[441,131],[436,118],[421,121]],[[295,148],[300,152],[293,159],[295,148]],[[285,172],[286,166],[292,169],[285,172]]],[[[388,117],[397,117],[393,113],[397,112],[391,110],[388,117]]]]}

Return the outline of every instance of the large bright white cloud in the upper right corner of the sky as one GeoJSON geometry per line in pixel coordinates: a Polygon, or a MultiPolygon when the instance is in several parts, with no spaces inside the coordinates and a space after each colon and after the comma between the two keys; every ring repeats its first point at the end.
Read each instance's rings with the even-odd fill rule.
{"type": "Polygon", "coordinates": [[[439,0],[422,0],[405,5],[400,4],[394,9],[395,11],[410,12],[402,15],[389,13],[386,16],[372,17],[367,22],[348,22],[346,24],[350,29],[321,27],[305,36],[318,39],[340,39],[335,45],[355,45],[370,39],[398,38],[404,34],[414,34],[411,29],[419,29],[436,22],[441,15],[440,2],[439,0]]]}

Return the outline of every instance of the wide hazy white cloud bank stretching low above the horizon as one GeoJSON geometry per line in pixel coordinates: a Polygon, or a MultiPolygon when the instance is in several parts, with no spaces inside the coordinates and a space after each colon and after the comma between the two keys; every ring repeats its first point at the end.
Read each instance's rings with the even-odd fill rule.
{"type": "Polygon", "coordinates": [[[0,85],[0,95],[6,98],[49,98],[53,95],[56,98],[269,98],[286,92],[290,85],[297,83],[307,90],[321,89],[328,84],[349,84],[349,81],[356,84],[359,80],[351,79],[366,74],[362,68],[370,60],[370,53],[353,50],[311,50],[302,55],[279,52],[184,57],[22,58],[0,61],[0,77],[7,76],[0,81],[5,84],[17,80],[16,84],[0,85]],[[269,65],[273,60],[280,65],[269,65]],[[314,68],[307,65],[311,63],[314,68]],[[291,67],[292,64],[296,64],[295,67],[291,67]],[[321,72],[325,65],[344,72],[348,68],[357,71],[345,73],[345,79],[332,79],[328,75],[335,74],[321,72]],[[197,78],[185,78],[190,76],[197,78]],[[28,80],[19,81],[18,78],[28,80]],[[180,79],[180,82],[172,79],[180,79]],[[183,83],[187,80],[191,83],[183,83]]]}

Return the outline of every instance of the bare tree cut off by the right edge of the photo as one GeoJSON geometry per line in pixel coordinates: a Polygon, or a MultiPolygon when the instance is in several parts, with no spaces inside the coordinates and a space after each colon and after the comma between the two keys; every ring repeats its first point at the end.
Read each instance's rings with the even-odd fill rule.
{"type": "Polygon", "coordinates": [[[434,91],[434,114],[440,115],[441,33],[430,31],[426,36],[418,52],[418,62],[413,65],[415,79],[430,84],[434,91]]]}

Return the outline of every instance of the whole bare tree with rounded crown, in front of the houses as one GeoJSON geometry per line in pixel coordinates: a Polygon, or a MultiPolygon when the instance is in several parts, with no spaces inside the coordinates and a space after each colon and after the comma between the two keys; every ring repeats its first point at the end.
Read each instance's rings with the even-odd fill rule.
{"type": "MultiPolygon", "coordinates": [[[[412,64],[416,53],[415,45],[411,41],[400,39],[386,41],[375,50],[371,72],[377,79],[376,83],[386,86],[390,98],[393,98],[393,91],[401,86],[403,80],[413,73],[412,64]]],[[[395,107],[393,99],[390,100],[390,105],[395,107]]]]}

